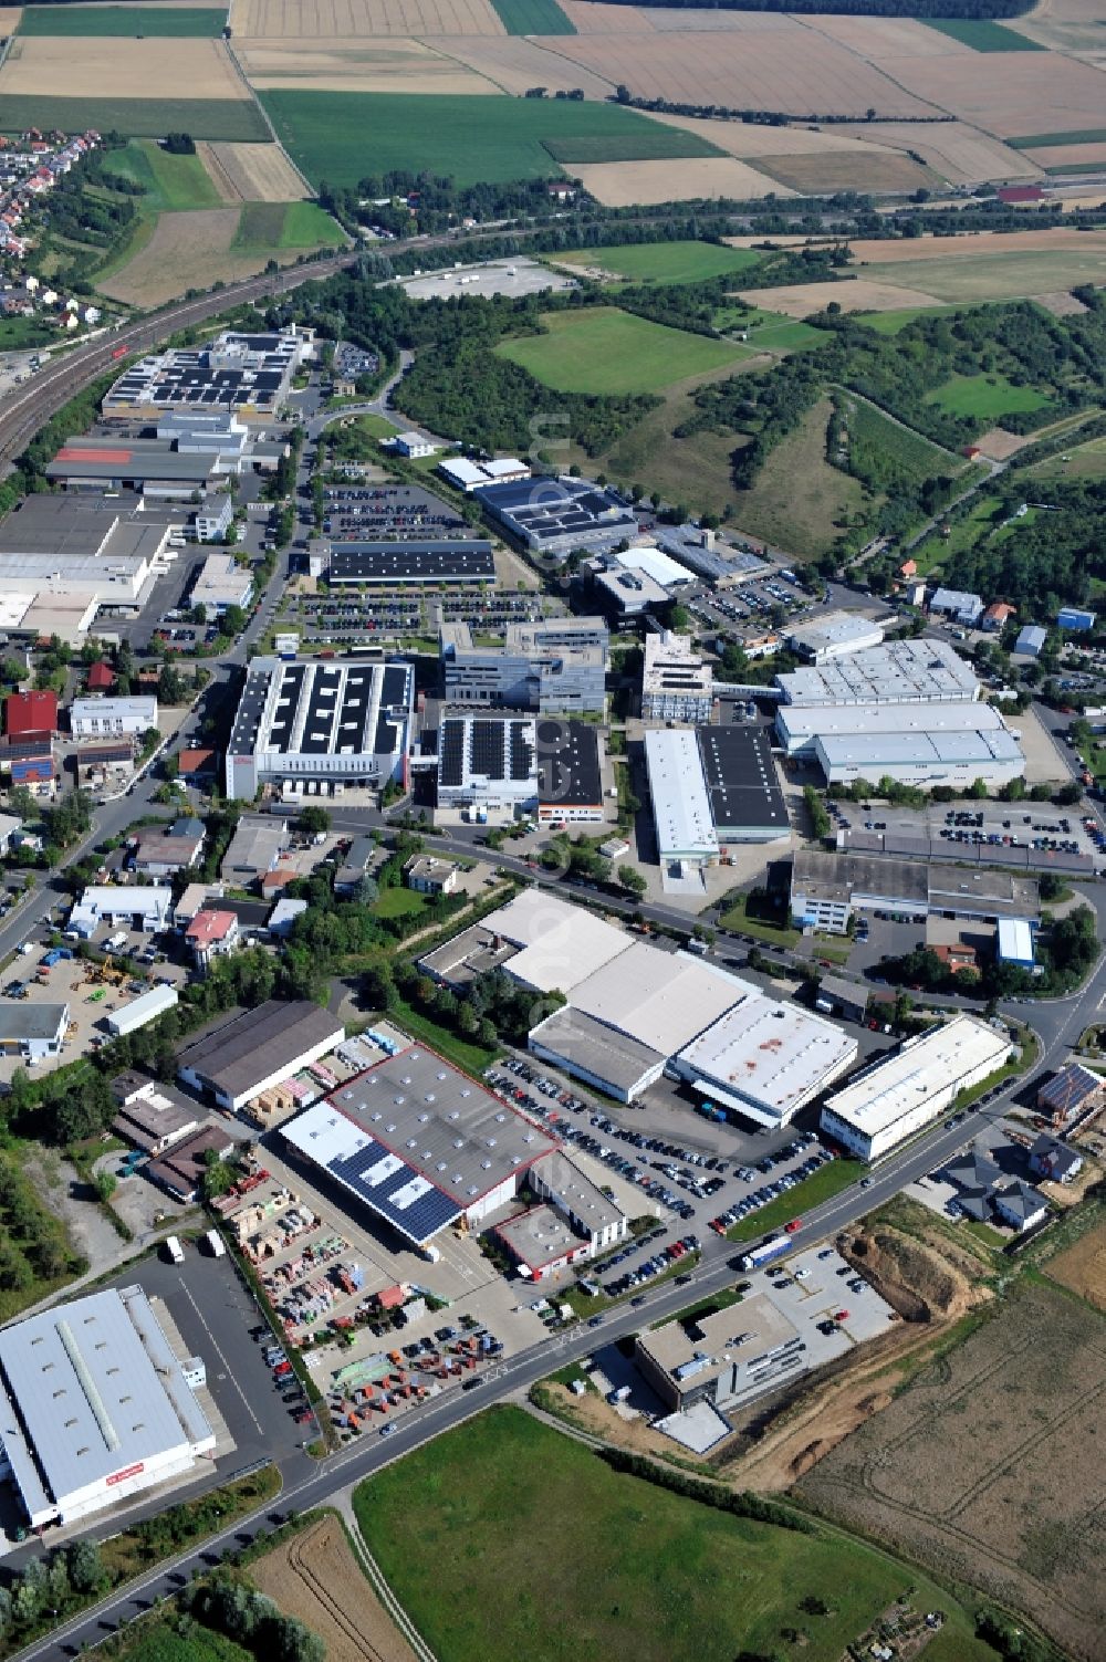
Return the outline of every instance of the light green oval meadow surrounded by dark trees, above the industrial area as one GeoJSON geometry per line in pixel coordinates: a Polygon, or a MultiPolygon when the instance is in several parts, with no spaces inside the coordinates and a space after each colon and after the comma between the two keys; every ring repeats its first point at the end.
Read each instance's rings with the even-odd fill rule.
{"type": "Polygon", "coordinates": [[[614,306],[547,312],[542,321],[546,334],[502,341],[496,352],[560,392],[655,392],[748,356],[745,346],[667,329],[614,306]]]}

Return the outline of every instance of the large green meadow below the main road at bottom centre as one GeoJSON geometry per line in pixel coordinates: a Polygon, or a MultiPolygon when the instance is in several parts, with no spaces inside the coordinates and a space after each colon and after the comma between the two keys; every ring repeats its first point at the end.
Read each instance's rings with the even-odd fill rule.
{"type": "Polygon", "coordinates": [[[948,1612],[963,1662],[993,1652],[963,1607],[845,1532],[732,1517],[610,1471],[517,1408],[492,1408],[354,1491],[358,1521],[426,1644],[449,1662],[704,1662],[777,1654],[838,1662],[913,1584],[948,1612]],[[832,1615],[812,1620],[807,1599],[832,1615]]]}

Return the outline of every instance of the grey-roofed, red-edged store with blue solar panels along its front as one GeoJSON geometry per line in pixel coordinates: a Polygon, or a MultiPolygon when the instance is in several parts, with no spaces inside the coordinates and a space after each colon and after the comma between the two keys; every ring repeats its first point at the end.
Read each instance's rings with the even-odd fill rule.
{"type": "Polygon", "coordinates": [[[419,1250],[451,1225],[482,1225],[557,1147],[426,1045],[348,1080],[281,1137],[419,1250]]]}

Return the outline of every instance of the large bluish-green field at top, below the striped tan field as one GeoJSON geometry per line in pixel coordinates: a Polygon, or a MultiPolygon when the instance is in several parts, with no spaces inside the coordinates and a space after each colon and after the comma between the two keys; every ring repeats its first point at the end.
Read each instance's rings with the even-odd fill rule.
{"type": "Polygon", "coordinates": [[[369,170],[393,168],[449,175],[461,186],[554,178],[560,170],[547,146],[569,140],[634,145],[634,155],[649,158],[687,155],[679,128],[619,105],[284,90],[258,96],[289,156],[316,184],[356,184],[369,170]],[[659,128],[669,135],[662,151],[655,148],[659,128]]]}

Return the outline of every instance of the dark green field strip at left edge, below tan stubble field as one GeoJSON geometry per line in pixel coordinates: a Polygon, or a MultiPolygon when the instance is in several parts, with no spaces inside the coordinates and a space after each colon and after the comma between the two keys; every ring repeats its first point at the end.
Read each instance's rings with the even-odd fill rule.
{"type": "MultiPolygon", "coordinates": [[[[329,95],[328,95],[329,96],[329,95]]],[[[28,126],[62,133],[123,133],[126,138],[163,138],[191,133],[193,138],[231,143],[266,143],[269,130],[251,98],[37,98],[30,93],[5,96],[0,130],[23,133],[28,126]]]]}

